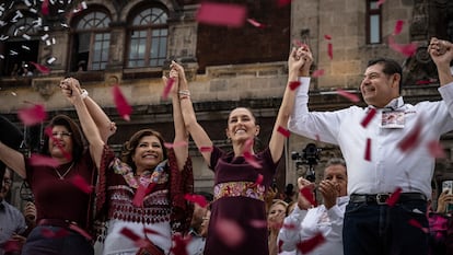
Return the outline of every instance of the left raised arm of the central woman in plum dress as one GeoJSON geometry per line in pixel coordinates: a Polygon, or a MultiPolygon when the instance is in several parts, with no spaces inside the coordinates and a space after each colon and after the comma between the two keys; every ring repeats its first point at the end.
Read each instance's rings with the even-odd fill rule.
{"type": "MultiPolygon", "coordinates": [[[[187,83],[186,76],[184,73],[184,68],[176,63],[175,61],[172,62],[172,68],[177,70],[179,73],[179,103],[181,103],[181,111],[183,113],[184,124],[186,126],[186,130],[190,134],[191,139],[194,139],[195,144],[198,149],[201,148],[211,148],[212,141],[209,138],[208,134],[206,134],[205,129],[198,124],[197,118],[195,116],[194,106],[191,105],[190,100],[190,92],[187,83]]],[[[210,164],[211,159],[211,151],[210,150],[200,150],[202,158],[205,161],[210,164]]]]}

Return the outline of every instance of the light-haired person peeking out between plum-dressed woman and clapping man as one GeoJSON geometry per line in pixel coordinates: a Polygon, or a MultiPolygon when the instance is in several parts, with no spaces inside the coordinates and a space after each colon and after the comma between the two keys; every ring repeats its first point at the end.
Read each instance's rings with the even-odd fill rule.
{"type": "Polygon", "coordinates": [[[269,255],[278,254],[277,236],[279,230],[283,225],[287,208],[288,204],[280,199],[275,199],[269,208],[269,213],[267,215],[267,229],[269,232],[267,242],[269,245],[269,255]]]}

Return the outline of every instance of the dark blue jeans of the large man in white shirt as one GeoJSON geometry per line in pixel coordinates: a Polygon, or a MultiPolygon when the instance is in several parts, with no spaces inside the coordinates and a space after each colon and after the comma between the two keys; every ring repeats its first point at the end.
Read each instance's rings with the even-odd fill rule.
{"type": "Polygon", "coordinates": [[[349,202],[342,242],[345,255],[427,255],[427,202],[411,200],[393,207],[349,202]],[[422,227],[409,223],[416,220],[422,227]]]}

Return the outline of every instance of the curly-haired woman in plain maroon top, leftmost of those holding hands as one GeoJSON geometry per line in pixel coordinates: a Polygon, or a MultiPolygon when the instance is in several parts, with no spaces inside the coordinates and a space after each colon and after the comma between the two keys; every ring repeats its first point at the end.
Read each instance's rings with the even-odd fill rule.
{"type": "MultiPolygon", "coordinates": [[[[102,116],[96,104],[90,98],[85,101],[90,102],[86,105],[79,104],[78,113],[102,116]]],[[[105,123],[83,123],[83,132],[101,131],[105,135],[103,137],[112,135],[111,121],[104,117],[105,123]]],[[[78,188],[73,182],[82,179],[89,185],[95,184],[98,161],[92,155],[102,154],[102,151],[103,148],[91,143],[86,150],[78,125],[66,115],[57,115],[50,120],[42,152],[57,162],[58,166],[36,165],[31,158],[24,158],[21,152],[0,142],[0,160],[28,182],[35,197],[37,225],[30,233],[22,254],[94,254],[88,234],[92,224],[92,196],[78,188]]]]}

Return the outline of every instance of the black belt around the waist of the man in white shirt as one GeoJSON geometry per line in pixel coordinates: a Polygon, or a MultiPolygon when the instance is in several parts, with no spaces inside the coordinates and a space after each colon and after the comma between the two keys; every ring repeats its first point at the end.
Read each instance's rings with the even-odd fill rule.
{"type": "MultiPolygon", "coordinates": [[[[367,202],[375,205],[385,205],[391,197],[391,193],[382,194],[352,194],[349,197],[350,202],[367,202]]],[[[402,193],[396,204],[411,201],[411,200],[427,200],[427,197],[421,193],[402,193]]]]}

